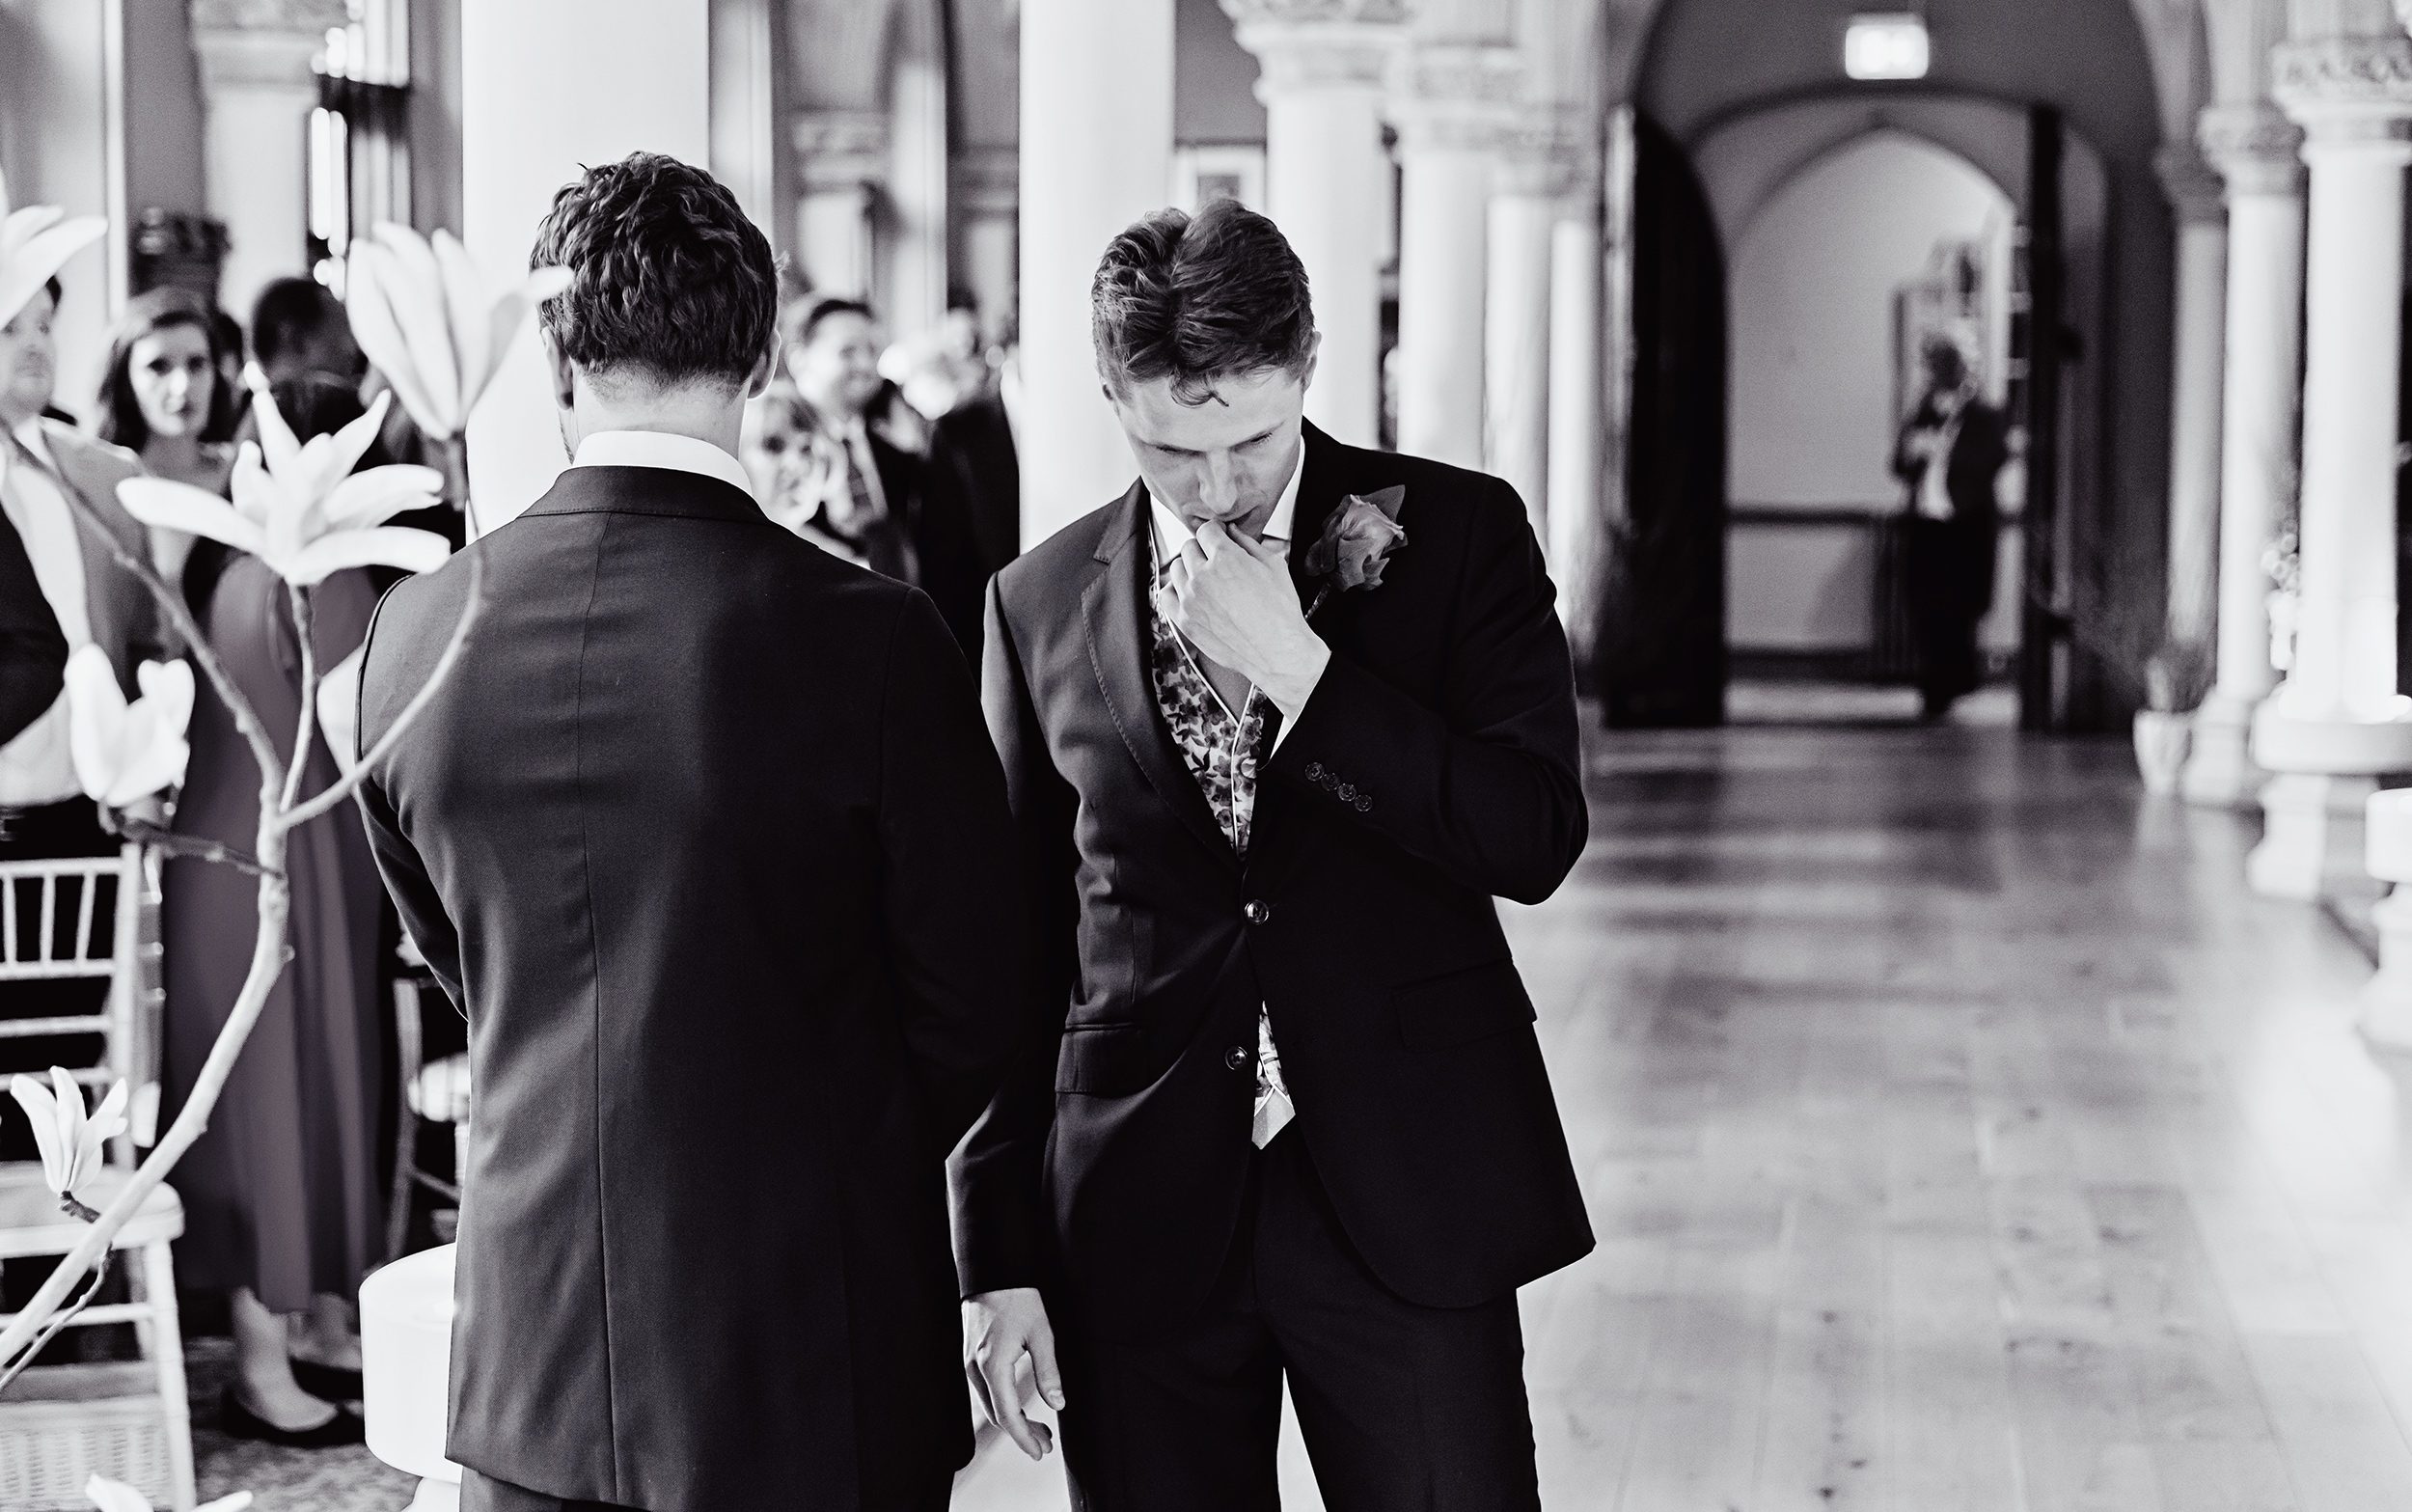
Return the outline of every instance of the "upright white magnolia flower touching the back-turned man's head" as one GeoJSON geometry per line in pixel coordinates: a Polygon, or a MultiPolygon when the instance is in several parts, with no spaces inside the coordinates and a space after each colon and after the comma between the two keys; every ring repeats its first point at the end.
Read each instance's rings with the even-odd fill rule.
{"type": "Polygon", "coordinates": [[[487,294],[451,232],[427,241],[391,222],[376,227],[374,241],[352,244],[345,277],[359,350],[432,441],[468,427],[519,323],[569,287],[567,268],[538,268],[502,294],[487,294]]]}

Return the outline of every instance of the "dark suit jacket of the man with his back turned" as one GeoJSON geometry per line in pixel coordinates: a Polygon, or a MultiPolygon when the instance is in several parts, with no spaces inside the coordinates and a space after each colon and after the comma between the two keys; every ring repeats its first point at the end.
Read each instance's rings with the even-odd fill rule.
{"type": "Polygon", "coordinates": [[[656,1512],[902,1505],[972,1449],[946,1153],[1028,1010],[929,600],[719,480],[572,468],[393,588],[362,789],[468,1015],[451,1457],[656,1512]]]}

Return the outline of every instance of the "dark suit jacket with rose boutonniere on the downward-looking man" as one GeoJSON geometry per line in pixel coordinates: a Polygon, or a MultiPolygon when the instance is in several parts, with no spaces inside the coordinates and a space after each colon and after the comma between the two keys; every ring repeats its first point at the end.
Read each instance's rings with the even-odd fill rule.
{"type": "Polygon", "coordinates": [[[1257,1006],[1341,1227],[1409,1302],[1466,1307],[1592,1244],[1493,895],[1587,837],[1575,685],[1515,490],[1307,429],[1293,576],[1343,494],[1404,485],[1380,588],[1257,789],[1242,863],[1165,733],[1148,497],[989,591],[982,702],[1042,914],[1040,1049],[958,1153],[967,1295],[1069,1280],[1097,1326],[1192,1312],[1230,1247],[1257,1006]]]}

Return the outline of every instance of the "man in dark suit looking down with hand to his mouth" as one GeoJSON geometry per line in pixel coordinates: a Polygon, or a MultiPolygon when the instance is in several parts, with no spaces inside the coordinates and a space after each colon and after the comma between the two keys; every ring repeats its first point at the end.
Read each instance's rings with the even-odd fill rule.
{"type": "Polygon", "coordinates": [[[989,591],[1035,1049],[955,1158],[974,1391],[1073,1505],[1532,1510],[1515,1290],[1592,1232],[1493,897],[1587,834],[1565,637],[1495,477],[1305,427],[1315,318],[1233,203],[1107,248],[1138,461],[989,591]]]}

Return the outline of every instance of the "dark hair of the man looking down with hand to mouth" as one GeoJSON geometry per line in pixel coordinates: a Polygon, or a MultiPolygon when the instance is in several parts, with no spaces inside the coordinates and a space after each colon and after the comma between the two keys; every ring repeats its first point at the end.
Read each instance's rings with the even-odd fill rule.
{"type": "Polygon", "coordinates": [[[1204,405],[1218,379],[1305,371],[1315,352],[1307,270],[1281,229],[1237,200],[1158,210],[1105,248],[1088,289],[1107,386],[1172,379],[1204,405]]]}

